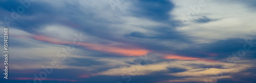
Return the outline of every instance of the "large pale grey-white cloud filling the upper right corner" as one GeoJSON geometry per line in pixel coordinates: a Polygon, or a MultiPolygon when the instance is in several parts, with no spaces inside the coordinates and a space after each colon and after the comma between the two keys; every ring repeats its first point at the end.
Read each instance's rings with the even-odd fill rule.
{"type": "MultiPolygon", "coordinates": [[[[174,19],[181,21],[181,14],[193,11],[190,6],[198,5],[192,1],[173,0],[176,7],[170,14],[174,19]]],[[[256,17],[255,12],[247,8],[247,5],[239,2],[228,1],[208,1],[205,0],[206,6],[200,8],[200,12],[195,15],[207,16],[211,19],[217,19],[206,23],[197,23],[195,18],[190,19],[188,24],[180,27],[181,33],[197,43],[211,43],[218,40],[231,38],[247,38],[256,35],[256,17]],[[225,3],[225,4],[224,4],[225,3]]]]}

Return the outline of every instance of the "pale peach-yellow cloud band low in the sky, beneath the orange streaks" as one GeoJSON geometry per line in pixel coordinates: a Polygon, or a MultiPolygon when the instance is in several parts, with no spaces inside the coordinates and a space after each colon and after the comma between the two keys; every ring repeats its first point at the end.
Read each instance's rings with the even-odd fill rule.
{"type": "MultiPolygon", "coordinates": [[[[202,61],[172,61],[172,62],[161,62],[150,65],[130,65],[130,67],[121,67],[116,69],[110,69],[107,71],[99,72],[96,75],[151,75],[154,72],[164,72],[165,75],[178,76],[185,78],[177,78],[168,80],[169,82],[202,82],[205,79],[207,81],[211,76],[218,76],[218,79],[232,78],[230,73],[240,73],[248,67],[251,67],[251,64],[238,64],[233,67],[230,66],[232,63],[210,63],[202,61]],[[201,66],[205,65],[205,66],[201,66]],[[219,68],[217,65],[221,65],[219,68]],[[211,68],[207,68],[211,66],[211,68]],[[175,71],[174,68],[185,69],[184,71],[175,71]],[[197,73],[197,74],[195,74],[197,73]]],[[[162,73],[162,74],[164,74],[162,73]]],[[[165,81],[166,82],[166,81],[165,81]]]]}

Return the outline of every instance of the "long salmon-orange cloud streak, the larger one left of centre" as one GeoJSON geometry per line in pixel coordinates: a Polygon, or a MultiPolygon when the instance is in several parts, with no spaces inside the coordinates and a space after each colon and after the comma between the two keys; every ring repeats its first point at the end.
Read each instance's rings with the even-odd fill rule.
{"type": "MultiPolygon", "coordinates": [[[[35,36],[34,39],[39,41],[46,41],[48,43],[53,43],[53,44],[73,44],[74,43],[74,42],[61,41],[58,39],[49,38],[45,36],[35,36]]],[[[80,45],[88,49],[99,50],[103,52],[110,52],[110,53],[120,54],[123,56],[141,56],[150,52],[150,50],[142,49],[142,48],[122,48],[117,46],[90,44],[90,43],[81,43],[80,45]]]]}

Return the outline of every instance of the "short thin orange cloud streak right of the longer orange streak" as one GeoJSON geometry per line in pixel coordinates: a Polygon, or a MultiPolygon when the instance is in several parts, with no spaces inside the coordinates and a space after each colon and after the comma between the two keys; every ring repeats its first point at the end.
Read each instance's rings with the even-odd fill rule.
{"type": "Polygon", "coordinates": [[[175,60],[193,60],[193,61],[204,61],[204,62],[211,62],[211,63],[219,63],[214,60],[207,60],[203,58],[192,58],[192,57],[184,57],[184,56],[176,56],[176,55],[168,55],[162,57],[164,59],[175,59],[175,60]]]}

